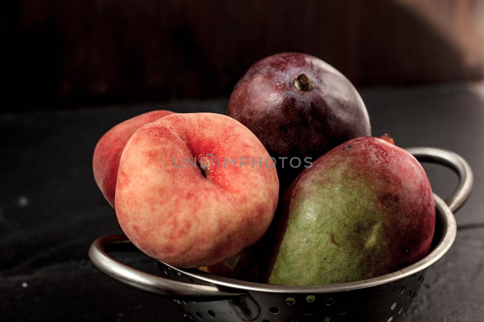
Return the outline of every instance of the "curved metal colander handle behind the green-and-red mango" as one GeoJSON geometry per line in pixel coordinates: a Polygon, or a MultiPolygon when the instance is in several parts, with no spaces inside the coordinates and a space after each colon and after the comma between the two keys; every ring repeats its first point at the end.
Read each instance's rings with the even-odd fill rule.
{"type": "Polygon", "coordinates": [[[431,147],[415,147],[405,150],[415,156],[419,161],[439,163],[452,168],[457,173],[459,183],[454,193],[445,199],[445,203],[449,206],[450,210],[452,212],[457,211],[469,197],[474,182],[474,176],[469,163],[459,154],[449,150],[431,147]]]}

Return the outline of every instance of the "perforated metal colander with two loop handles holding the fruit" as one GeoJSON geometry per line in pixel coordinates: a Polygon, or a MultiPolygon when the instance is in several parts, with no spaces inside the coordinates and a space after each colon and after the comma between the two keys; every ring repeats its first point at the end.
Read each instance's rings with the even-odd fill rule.
{"type": "Polygon", "coordinates": [[[420,161],[440,163],[459,175],[452,196],[434,195],[436,229],[430,252],[422,260],[390,274],[331,285],[272,285],[233,280],[198,269],[159,262],[162,276],[142,272],[115,260],[109,252],[133,252],[124,235],[96,239],[89,257],[101,272],[137,289],[172,298],[187,319],[212,322],[403,321],[417,299],[429,266],[452,246],[457,232],[453,211],[469,196],[469,164],[451,151],[419,147],[407,151],[420,161]]]}

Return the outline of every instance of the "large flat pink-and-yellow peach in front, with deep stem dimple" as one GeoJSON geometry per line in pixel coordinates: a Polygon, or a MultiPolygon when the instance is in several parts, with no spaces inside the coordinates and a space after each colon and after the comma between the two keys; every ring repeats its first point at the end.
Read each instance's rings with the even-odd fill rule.
{"type": "Polygon", "coordinates": [[[141,251],[165,263],[222,262],[255,243],[272,221],[279,181],[271,159],[265,166],[267,158],[257,137],[225,115],[173,114],[147,124],[121,155],[115,200],[121,228],[141,251]],[[212,165],[206,154],[213,154],[212,165]],[[187,167],[186,158],[194,157],[204,157],[204,172],[187,167]],[[224,157],[235,157],[235,168],[224,168],[224,157]],[[249,164],[241,168],[240,157],[249,164]],[[252,157],[261,157],[261,167],[252,167],[252,157]],[[173,158],[177,166],[183,158],[181,168],[173,158]]]}

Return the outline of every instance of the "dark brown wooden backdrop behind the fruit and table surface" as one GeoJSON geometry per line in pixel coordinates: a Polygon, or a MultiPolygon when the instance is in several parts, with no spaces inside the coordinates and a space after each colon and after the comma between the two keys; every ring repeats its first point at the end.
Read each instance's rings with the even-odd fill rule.
{"type": "Polygon", "coordinates": [[[299,51],[358,86],[482,79],[483,0],[16,0],[0,4],[7,109],[227,97],[299,51]]]}

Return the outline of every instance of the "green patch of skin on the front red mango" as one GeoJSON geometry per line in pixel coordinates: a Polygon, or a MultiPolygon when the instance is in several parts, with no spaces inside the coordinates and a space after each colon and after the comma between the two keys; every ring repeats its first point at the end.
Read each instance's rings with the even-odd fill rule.
{"type": "Polygon", "coordinates": [[[384,210],[374,201],[371,183],[351,168],[340,164],[302,176],[287,216],[269,283],[363,280],[378,271],[376,265],[385,266],[384,210]]]}

